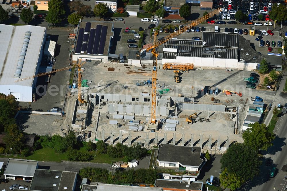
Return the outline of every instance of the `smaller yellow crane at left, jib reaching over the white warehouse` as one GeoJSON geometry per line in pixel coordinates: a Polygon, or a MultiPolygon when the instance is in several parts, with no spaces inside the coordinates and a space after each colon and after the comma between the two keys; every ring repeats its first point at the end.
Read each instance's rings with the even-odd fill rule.
{"type": "Polygon", "coordinates": [[[23,81],[23,80],[26,80],[26,79],[31,79],[31,78],[35,78],[35,77],[39,77],[39,76],[44,76],[44,75],[50,75],[51,73],[55,73],[55,72],[59,72],[59,71],[63,71],[63,70],[69,70],[71,68],[78,67],[78,100],[79,100],[80,103],[83,104],[85,102],[85,100],[84,100],[84,95],[82,95],[81,67],[86,63],[86,61],[84,61],[84,63],[82,63],[82,64],[81,64],[81,61],[82,61],[82,59],[79,59],[77,64],[75,64],[75,65],[68,66],[68,67],[61,68],[61,69],[57,69],[57,70],[54,70],[54,71],[51,71],[51,72],[44,72],[44,73],[40,73],[40,74],[37,74],[37,75],[34,75],[34,76],[22,78],[22,79],[16,80],[15,82],[23,81]]]}

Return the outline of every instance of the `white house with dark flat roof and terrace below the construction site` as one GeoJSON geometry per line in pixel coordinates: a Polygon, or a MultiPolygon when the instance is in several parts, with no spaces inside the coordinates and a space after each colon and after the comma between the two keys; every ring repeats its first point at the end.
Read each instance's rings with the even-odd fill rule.
{"type": "Polygon", "coordinates": [[[163,170],[164,179],[195,181],[207,159],[201,155],[201,147],[161,144],[156,161],[158,169],[174,169],[174,173],[165,173],[163,170]]]}

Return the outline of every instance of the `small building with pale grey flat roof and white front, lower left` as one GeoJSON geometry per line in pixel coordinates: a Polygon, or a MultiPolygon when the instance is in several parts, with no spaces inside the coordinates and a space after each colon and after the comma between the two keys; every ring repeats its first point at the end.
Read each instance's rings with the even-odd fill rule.
{"type": "Polygon", "coordinates": [[[23,180],[31,180],[34,177],[35,170],[38,169],[38,161],[23,159],[8,159],[4,176],[15,180],[23,178],[23,180]]]}

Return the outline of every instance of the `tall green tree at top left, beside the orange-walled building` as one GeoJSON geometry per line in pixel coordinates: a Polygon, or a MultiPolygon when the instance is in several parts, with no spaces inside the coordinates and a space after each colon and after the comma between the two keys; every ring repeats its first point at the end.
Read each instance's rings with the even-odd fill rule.
{"type": "Polygon", "coordinates": [[[63,1],[51,0],[48,3],[48,15],[46,16],[46,21],[53,25],[60,24],[65,13],[66,11],[63,1]]]}

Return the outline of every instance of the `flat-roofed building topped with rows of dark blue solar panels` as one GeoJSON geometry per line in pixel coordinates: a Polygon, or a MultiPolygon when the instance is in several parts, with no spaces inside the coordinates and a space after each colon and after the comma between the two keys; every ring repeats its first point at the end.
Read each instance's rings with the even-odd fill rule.
{"type": "Polygon", "coordinates": [[[107,62],[113,35],[113,22],[80,20],[73,49],[73,61],[90,59],[107,62]]]}

